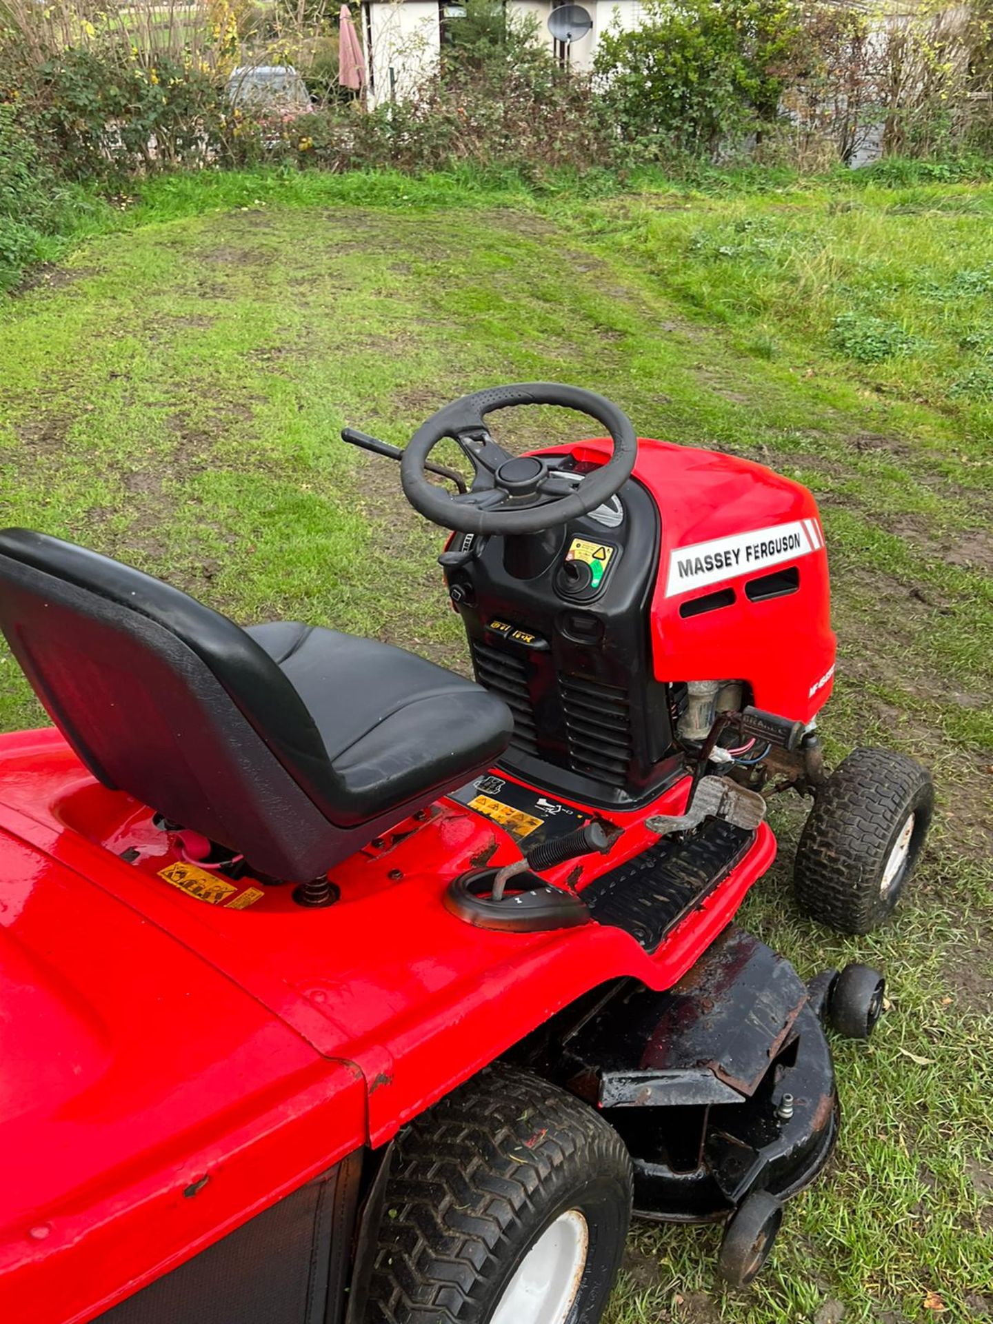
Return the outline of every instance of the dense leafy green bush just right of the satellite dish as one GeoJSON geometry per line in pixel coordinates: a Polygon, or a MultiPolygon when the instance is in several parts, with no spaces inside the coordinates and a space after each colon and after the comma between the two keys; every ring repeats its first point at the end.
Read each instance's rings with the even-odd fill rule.
{"type": "Polygon", "coordinates": [[[645,0],[601,37],[597,86],[625,139],[714,156],[776,119],[796,33],[792,0],[645,0]]]}

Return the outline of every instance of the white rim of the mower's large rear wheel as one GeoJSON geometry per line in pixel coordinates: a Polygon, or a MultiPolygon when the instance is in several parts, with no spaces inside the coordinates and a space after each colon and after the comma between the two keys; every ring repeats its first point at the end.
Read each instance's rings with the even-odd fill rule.
{"type": "Polygon", "coordinates": [[[589,1229],[579,1209],[559,1214],[520,1262],[491,1324],[565,1324],[588,1253],[589,1229]]]}

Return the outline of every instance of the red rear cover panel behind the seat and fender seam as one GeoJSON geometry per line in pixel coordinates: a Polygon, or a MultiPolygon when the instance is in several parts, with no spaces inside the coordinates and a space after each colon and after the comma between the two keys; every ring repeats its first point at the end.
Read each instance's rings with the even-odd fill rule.
{"type": "Polygon", "coordinates": [[[354,1147],[364,1088],[0,831],[0,1319],[68,1324],[354,1147]]]}

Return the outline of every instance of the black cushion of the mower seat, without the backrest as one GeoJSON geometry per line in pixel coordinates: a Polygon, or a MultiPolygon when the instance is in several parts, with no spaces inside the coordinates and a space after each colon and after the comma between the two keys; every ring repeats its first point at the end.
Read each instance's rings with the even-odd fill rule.
{"type": "Polygon", "coordinates": [[[332,822],[424,802],[510,740],[514,723],[502,699],[404,649],[293,621],[248,633],[278,663],[320,733],[336,786],[319,806],[332,822]]]}

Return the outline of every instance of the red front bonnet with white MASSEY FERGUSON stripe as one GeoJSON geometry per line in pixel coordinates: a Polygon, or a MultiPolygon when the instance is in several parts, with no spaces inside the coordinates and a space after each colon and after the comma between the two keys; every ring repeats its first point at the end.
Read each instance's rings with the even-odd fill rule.
{"type": "MultiPolygon", "coordinates": [[[[593,441],[577,454],[587,448],[589,458],[610,453],[593,441]]],[[[638,444],[634,477],[662,514],[655,677],[719,679],[731,666],[756,707],[812,722],[830,696],[837,646],[812,494],[764,465],[665,441],[638,444]],[[794,579],[781,579],[786,569],[794,579]]]]}

